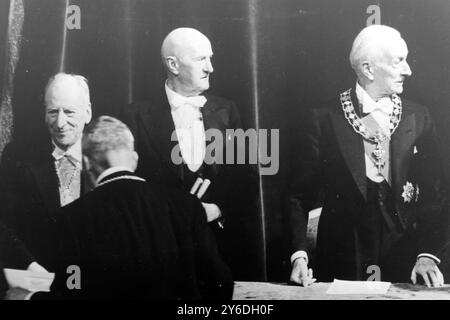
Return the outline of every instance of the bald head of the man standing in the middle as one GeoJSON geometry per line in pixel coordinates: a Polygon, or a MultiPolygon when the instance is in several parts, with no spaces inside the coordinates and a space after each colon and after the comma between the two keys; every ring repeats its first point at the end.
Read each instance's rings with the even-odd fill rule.
{"type": "Polygon", "coordinates": [[[196,96],[209,88],[213,52],[208,38],[192,28],[170,32],[161,46],[170,89],[184,96],[196,96]]]}

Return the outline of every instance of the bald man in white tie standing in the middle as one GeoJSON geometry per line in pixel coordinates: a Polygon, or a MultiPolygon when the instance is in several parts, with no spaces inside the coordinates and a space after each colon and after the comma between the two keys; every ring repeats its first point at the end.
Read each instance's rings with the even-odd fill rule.
{"type": "Polygon", "coordinates": [[[258,225],[251,209],[256,202],[257,175],[249,166],[225,163],[224,149],[232,138],[226,130],[241,128],[241,122],[233,102],[202,95],[209,89],[214,71],[212,55],[210,41],[199,31],[178,28],[170,32],[161,48],[167,81],[160,95],[128,106],[122,119],[136,137],[140,155],[137,172],[150,181],[196,194],[220,251],[233,270],[248,278],[256,259],[249,259],[251,253],[231,256],[246,252],[238,233],[256,234],[249,230],[258,225]],[[223,145],[215,153],[208,152],[212,143],[207,145],[212,131],[220,132],[223,145]]]}

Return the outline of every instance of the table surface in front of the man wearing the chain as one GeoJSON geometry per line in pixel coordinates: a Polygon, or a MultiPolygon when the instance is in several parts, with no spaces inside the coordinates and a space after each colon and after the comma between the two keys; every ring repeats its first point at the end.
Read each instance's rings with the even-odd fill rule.
{"type": "Polygon", "coordinates": [[[309,287],[286,283],[242,282],[234,285],[234,300],[450,300],[450,285],[427,288],[407,283],[392,284],[385,295],[327,294],[331,283],[314,283],[309,287]]]}

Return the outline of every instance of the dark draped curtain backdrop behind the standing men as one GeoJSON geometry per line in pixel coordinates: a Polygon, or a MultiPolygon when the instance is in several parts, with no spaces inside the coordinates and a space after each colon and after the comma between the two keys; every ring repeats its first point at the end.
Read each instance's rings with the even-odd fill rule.
{"type": "MultiPolygon", "coordinates": [[[[299,117],[355,84],[348,54],[366,26],[369,5],[379,5],[381,23],[397,28],[406,40],[413,76],[403,96],[429,107],[449,159],[448,0],[73,0],[70,4],[81,8],[81,30],[66,30],[65,41],[66,1],[24,4],[14,139],[41,134],[43,89],[54,73],[84,75],[94,115],[115,116],[163,84],[159,49],[169,31],[188,26],[209,37],[215,53],[210,91],[237,103],[246,128],[280,130],[280,171],[262,177],[263,205],[255,213],[264,229],[247,235],[258,266],[245,280],[286,280],[289,254],[280,199],[297,148],[299,117]]],[[[8,6],[0,0],[0,81],[8,6]]]]}

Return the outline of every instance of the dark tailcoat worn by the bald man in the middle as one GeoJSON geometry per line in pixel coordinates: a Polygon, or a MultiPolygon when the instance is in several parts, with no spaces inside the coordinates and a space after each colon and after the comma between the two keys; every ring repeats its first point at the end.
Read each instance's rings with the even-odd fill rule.
{"type": "MultiPolygon", "coordinates": [[[[201,108],[204,127],[205,130],[214,128],[222,132],[224,148],[221,153],[225,159],[226,130],[241,128],[239,114],[233,102],[209,94],[205,97],[207,102],[201,108]]],[[[160,95],[150,102],[127,106],[120,118],[135,137],[139,154],[136,172],[149,181],[189,192],[192,184],[184,179],[187,166],[175,165],[171,160],[171,152],[178,142],[171,141],[175,125],[164,87],[160,95]]],[[[219,153],[215,156],[219,158],[219,153]]],[[[211,165],[204,163],[203,166],[204,178],[211,180],[211,185],[201,201],[218,205],[225,226],[221,229],[216,222],[209,224],[220,252],[236,277],[255,279],[258,266],[254,264],[259,259],[255,255],[259,252],[258,234],[261,232],[256,210],[257,171],[254,166],[243,164],[216,162],[211,165]],[[236,250],[237,246],[240,250],[236,250]]]]}

